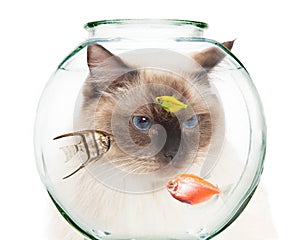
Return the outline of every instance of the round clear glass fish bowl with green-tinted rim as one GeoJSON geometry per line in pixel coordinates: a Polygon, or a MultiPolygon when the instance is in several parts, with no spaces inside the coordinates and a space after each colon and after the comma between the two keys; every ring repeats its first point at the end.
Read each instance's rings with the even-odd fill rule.
{"type": "Polygon", "coordinates": [[[251,199],[266,147],[262,105],[234,41],[205,38],[206,28],[90,22],[88,39],[51,76],[35,156],[72,231],[211,239],[251,199]]]}

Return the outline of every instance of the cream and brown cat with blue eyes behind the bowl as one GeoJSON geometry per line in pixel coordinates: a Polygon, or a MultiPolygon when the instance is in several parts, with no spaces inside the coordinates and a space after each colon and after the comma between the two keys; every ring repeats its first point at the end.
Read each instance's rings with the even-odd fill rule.
{"type": "MultiPolygon", "coordinates": [[[[233,41],[223,45],[230,50],[233,41]]],[[[178,203],[164,202],[170,196],[162,186],[177,172],[198,173],[221,148],[233,155],[224,139],[222,104],[210,85],[210,73],[224,56],[215,47],[194,53],[190,58],[198,68],[178,74],[133,67],[101,45],[87,47],[89,76],[74,126],[110,133],[114,143],[101,160],[65,179],[58,190],[73,216],[89,219],[95,229],[118,238],[172,237],[197,227],[199,216],[193,209],[178,213],[178,203]],[[173,114],[155,103],[159,96],[175,96],[189,107],[173,114]]],[[[74,169],[79,163],[80,159],[68,164],[74,169]]],[[[221,175],[216,173],[214,179],[221,175]]],[[[83,239],[75,229],[65,231],[64,223],[55,226],[51,239],[83,239]]]]}

